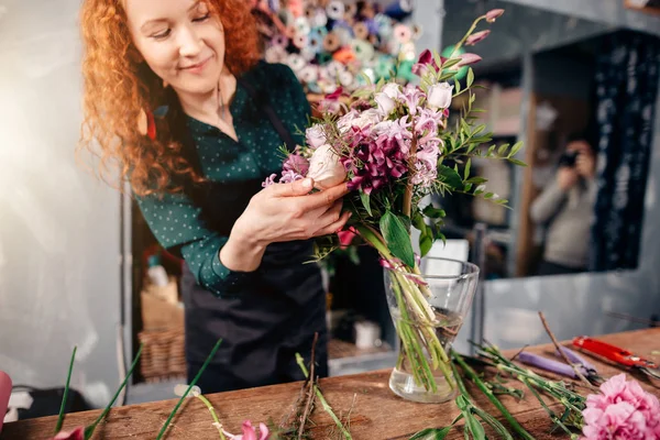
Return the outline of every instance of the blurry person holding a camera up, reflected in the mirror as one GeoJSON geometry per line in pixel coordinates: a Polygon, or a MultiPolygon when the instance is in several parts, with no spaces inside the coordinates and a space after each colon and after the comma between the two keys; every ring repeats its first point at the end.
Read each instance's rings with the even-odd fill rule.
{"type": "Polygon", "coordinates": [[[530,217],[547,227],[537,275],[584,272],[596,197],[595,155],[583,138],[573,138],[559,161],[554,180],[531,204],[530,217]]]}

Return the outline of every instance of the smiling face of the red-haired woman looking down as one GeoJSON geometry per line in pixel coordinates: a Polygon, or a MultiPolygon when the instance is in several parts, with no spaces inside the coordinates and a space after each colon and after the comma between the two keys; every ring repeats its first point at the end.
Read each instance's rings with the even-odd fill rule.
{"type": "Polygon", "coordinates": [[[199,0],[124,0],[133,43],[177,92],[213,90],[224,63],[222,24],[199,0]]]}

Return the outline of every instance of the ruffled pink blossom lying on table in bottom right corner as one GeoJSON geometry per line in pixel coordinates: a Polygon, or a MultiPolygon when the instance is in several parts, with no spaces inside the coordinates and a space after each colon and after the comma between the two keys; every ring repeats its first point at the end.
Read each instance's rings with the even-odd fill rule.
{"type": "Polygon", "coordinates": [[[585,440],[660,439],[658,398],[623,373],[601,385],[601,394],[586,398],[583,416],[585,440]]]}

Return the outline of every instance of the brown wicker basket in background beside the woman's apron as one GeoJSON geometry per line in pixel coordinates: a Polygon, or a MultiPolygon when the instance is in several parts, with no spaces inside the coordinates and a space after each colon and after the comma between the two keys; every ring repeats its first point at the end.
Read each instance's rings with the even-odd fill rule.
{"type": "Polygon", "coordinates": [[[138,334],[144,344],[140,371],[145,382],[163,382],[186,377],[184,329],[146,330],[138,334]]]}

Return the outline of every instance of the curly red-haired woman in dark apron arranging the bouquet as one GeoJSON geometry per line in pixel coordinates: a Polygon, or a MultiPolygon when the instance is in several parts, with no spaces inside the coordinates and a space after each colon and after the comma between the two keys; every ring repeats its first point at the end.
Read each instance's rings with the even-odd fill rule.
{"type": "Polygon", "coordinates": [[[82,145],[119,165],[163,246],[186,261],[188,377],[215,342],[205,393],[327,374],[310,239],[340,230],[345,185],[261,183],[302,139],[309,105],[293,72],[260,61],[244,0],[85,0],[82,145]]]}

